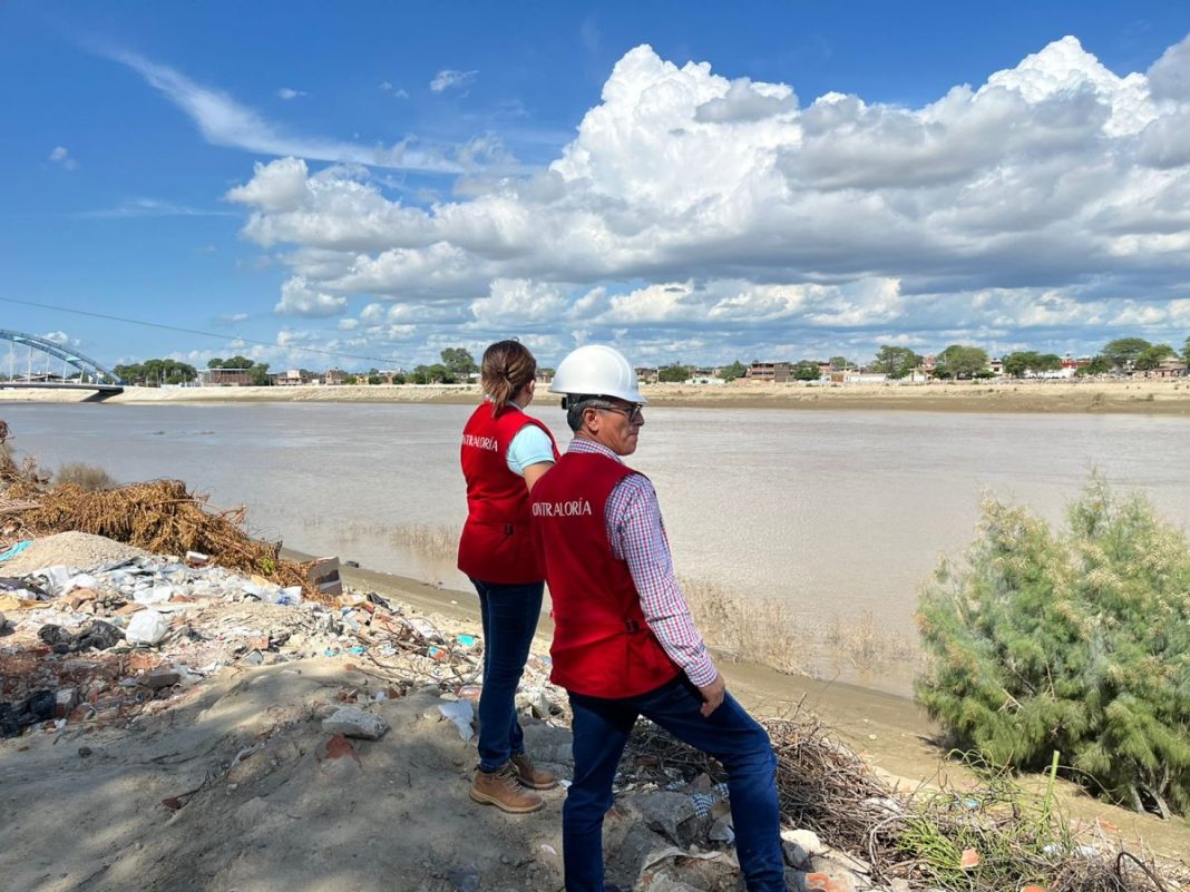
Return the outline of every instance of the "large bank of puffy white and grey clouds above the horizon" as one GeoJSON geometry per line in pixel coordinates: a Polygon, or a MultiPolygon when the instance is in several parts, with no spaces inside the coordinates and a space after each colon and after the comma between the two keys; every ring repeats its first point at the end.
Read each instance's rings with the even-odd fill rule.
{"type": "Polygon", "coordinates": [[[418,360],[508,335],[557,351],[543,362],[584,339],[638,362],[1180,347],[1190,38],[1120,77],[1066,37],[921,108],[801,105],[638,46],[531,177],[419,207],[367,170],[286,157],[227,197],[248,238],[293,249],[277,312],[367,295],[340,329],[418,360]]]}

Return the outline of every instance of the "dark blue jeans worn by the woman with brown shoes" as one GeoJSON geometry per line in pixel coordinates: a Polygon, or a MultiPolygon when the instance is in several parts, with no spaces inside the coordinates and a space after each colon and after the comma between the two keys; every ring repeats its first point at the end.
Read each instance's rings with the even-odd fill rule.
{"type": "Polygon", "coordinates": [[[501,585],[472,579],[483,618],[480,771],[495,771],[525,752],[516,721],[516,685],[541,616],[544,583],[501,585]]]}

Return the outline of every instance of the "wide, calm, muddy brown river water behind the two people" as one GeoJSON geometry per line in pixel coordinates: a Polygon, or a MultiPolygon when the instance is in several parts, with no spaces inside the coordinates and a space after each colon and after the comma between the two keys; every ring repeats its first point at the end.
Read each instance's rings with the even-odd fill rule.
{"type": "MultiPolygon", "coordinates": [[[[563,413],[534,412],[565,445],[563,413]]],[[[458,436],[470,408],[407,403],[6,404],[43,466],[177,477],[255,533],[466,590],[458,436]]],[[[919,585],[970,542],[981,494],[1058,521],[1091,467],[1190,527],[1190,420],[1138,415],[651,408],[631,464],[657,485],[678,572],[807,623],[913,634],[919,585]]],[[[900,685],[898,685],[900,686],[900,685]]]]}

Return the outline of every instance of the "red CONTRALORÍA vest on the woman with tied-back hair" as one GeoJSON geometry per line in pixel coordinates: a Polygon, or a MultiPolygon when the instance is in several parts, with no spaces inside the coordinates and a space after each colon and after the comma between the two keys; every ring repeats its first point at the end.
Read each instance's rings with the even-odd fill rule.
{"type": "Polygon", "coordinates": [[[493,417],[491,403],[486,402],[463,428],[459,460],[466,478],[466,523],[458,541],[458,569],[472,579],[516,585],[545,578],[530,536],[525,478],[508,470],[508,447],[526,425],[545,431],[557,461],[550,429],[515,407],[506,406],[493,417]]]}

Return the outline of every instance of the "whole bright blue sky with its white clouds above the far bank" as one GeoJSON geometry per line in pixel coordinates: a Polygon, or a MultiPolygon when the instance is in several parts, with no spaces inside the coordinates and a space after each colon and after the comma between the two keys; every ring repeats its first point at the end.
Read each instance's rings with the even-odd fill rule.
{"type": "Polygon", "coordinates": [[[1188,33],[1173,1],[10,1],[2,327],[274,369],[1180,347],[1188,33]]]}

